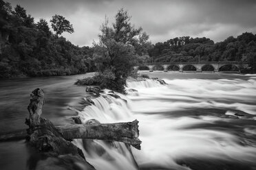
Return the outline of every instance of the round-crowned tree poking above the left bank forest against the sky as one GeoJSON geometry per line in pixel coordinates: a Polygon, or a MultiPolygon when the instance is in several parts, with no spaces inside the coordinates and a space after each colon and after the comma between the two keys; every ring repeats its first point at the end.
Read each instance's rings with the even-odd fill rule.
{"type": "Polygon", "coordinates": [[[52,23],[52,29],[56,32],[56,36],[63,34],[63,32],[68,32],[72,34],[74,32],[73,25],[70,24],[70,21],[67,21],[64,16],[54,15],[50,20],[52,23]]]}

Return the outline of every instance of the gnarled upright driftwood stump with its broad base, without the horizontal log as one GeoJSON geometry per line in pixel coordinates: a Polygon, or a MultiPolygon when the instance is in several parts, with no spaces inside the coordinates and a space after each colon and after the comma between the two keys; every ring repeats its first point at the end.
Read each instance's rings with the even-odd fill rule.
{"type": "MultiPolygon", "coordinates": [[[[52,122],[41,117],[44,103],[43,97],[43,90],[40,88],[33,90],[30,95],[30,104],[28,106],[30,118],[26,119],[25,122],[29,126],[27,130],[27,141],[30,146],[34,147],[39,153],[44,154],[44,156],[36,160],[36,162],[32,162],[36,167],[29,169],[95,170],[94,167],[85,160],[81,149],[70,141],[65,140],[62,134],[56,130],[52,122]],[[66,162],[70,162],[72,165],[67,165],[66,162]]],[[[30,165],[28,165],[28,167],[30,167],[30,165]]]]}

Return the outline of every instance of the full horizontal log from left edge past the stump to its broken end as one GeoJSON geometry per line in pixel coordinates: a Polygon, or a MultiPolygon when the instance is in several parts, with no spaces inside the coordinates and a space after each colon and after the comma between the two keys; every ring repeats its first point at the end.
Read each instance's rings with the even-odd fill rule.
{"type": "MultiPolygon", "coordinates": [[[[72,118],[74,121],[80,121],[80,119],[75,119],[76,117],[72,118]]],[[[37,125],[36,129],[44,129],[45,125],[49,125],[49,123],[45,124],[46,119],[43,120],[43,124],[37,125]]],[[[78,123],[78,122],[76,122],[78,123]]],[[[54,134],[61,135],[62,138],[70,141],[74,138],[91,138],[91,139],[99,139],[99,140],[106,140],[106,141],[119,141],[122,143],[127,143],[132,145],[136,149],[140,149],[141,141],[138,139],[139,132],[138,132],[138,121],[132,121],[127,123],[94,123],[89,125],[83,124],[75,124],[75,125],[61,125],[56,126],[55,129],[52,127],[50,131],[54,130],[54,134]]],[[[30,135],[28,138],[31,138],[32,132],[31,129],[28,130],[30,135]]],[[[47,131],[47,130],[45,130],[47,131]]],[[[41,134],[41,132],[40,132],[41,134]]],[[[27,136],[27,132],[25,130],[20,132],[12,132],[10,134],[2,134],[0,135],[0,141],[10,141],[10,140],[19,140],[23,139],[27,136]]]]}

